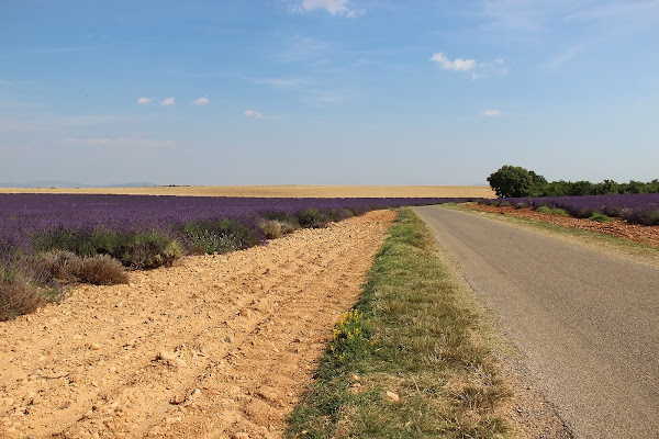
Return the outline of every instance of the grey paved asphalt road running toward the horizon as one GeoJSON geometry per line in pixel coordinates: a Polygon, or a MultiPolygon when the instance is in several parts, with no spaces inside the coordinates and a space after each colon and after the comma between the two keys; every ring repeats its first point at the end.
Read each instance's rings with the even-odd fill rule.
{"type": "Polygon", "coordinates": [[[417,207],[578,438],[659,438],[659,269],[417,207]]]}

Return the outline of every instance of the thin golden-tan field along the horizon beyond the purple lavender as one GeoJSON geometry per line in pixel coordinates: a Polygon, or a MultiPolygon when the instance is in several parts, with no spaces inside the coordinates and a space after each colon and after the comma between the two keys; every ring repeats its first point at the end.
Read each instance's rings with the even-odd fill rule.
{"type": "Polygon", "coordinates": [[[0,188],[0,193],[114,193],[127,195],[257,198],[495,198],[487,185],[191,185],[153,188],[0,188]]]}

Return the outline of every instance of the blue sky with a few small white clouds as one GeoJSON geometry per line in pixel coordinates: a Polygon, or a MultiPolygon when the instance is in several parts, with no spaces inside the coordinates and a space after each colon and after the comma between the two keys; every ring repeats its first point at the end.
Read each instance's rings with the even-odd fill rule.
{"type": "Polygon", "coordinates": [[[659,0],[0,0],[0,182],[659,178],[659,0]]]}

